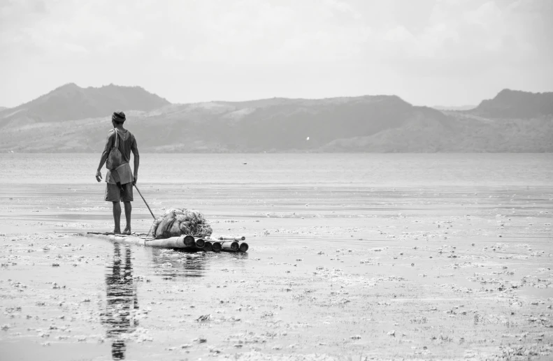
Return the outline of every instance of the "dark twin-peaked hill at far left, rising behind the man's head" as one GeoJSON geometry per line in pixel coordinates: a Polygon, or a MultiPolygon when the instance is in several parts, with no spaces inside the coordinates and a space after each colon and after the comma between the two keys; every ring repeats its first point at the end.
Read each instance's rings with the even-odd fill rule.
{"type": "Polygon", "coordinates": [[[115,110],[154,110],[169,104],[164,98],[141,87],[107,85],[81,88],[65,84],[34,101],[0,110],[0,128],[14,121],[32,124],[44,121],[68,121],[90,117],[109,117],[115,110]]]}

